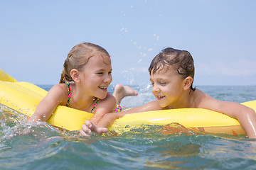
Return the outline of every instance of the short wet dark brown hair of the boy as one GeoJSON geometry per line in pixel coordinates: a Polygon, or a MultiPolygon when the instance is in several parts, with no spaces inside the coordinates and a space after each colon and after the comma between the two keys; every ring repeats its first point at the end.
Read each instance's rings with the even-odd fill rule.
{"type": "MultiPolygon", "coordinates": [[[[186,79],[186,77],[194,78],[195,67],[191,54],[186,50],[176,50],[171,47],[166,47],[159,55],[154,57],[149,67],[149,74],[154,74],[164,68],[168,69],[170,66],[173,67],[178,74],[181,74],[183,79],[186,79]]],[[[190,88],[193,91],[196,90],[196,88],[193,88],[193,82],[190,88]]]]}

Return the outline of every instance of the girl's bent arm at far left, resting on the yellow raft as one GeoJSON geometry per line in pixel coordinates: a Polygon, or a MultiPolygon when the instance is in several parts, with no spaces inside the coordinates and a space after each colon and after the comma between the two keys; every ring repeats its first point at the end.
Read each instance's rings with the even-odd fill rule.
{"type": "Polygon", "coordinates": [[[56,84],[38,104],[35,113],[33,113],[28,122],[47,121],[53,115],[58,105],[63,105],[65,100],[68,101],[67,96],[67,91],[63,85],[56,84]]]}

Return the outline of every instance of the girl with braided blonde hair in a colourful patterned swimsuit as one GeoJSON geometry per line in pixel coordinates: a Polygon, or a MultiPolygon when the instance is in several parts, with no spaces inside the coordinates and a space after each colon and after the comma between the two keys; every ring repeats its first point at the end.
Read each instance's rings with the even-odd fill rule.
{"type": "Polygon", "coordinates": [[[109,53],[99,45],[89,42],[75,45],[63,67],[60,83],[48,91],[30,122],[47,121],[61,105],[94,113],[91,121],[97,124],[106,113],[121,110],[117,102],[120,103],[124,96],[137,95],[129,86],[120,84],[114,91],[118,101],[107,93],[112,81],[111,60],[109,53]]]}

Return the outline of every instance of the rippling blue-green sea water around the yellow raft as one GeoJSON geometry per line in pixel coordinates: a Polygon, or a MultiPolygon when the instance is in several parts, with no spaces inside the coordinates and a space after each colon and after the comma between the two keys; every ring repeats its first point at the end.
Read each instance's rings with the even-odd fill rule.
{"type": "MultiPolygon", "coordinates": [[[[154,100],[151,86],[133,88],[139,95],[124,98],[122,106],[154,100]]],[[[223,101],[256,99],[256,86],[197,89],[223,101]]],[[[122,135],[78,137],[77,132],[62,132],[48,123],[26,121],[26,116],[0,106],[0,169],[256,169],[256,140],[245,135],[162,135],[161,126],[144,125],[122,135]]]]}

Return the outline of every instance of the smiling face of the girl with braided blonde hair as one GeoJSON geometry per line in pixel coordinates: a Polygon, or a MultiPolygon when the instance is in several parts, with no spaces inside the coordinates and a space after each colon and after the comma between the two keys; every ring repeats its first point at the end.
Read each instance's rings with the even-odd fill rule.
{"type": "Polygon", "coordinates": [[[80,74],[80,81],[88,96],[103,99],[107,96],[107,87],[112,82],[110,57],[95,55],[90,57],[80,74]]]}

